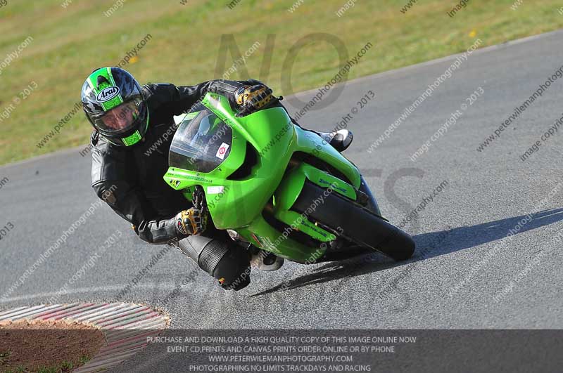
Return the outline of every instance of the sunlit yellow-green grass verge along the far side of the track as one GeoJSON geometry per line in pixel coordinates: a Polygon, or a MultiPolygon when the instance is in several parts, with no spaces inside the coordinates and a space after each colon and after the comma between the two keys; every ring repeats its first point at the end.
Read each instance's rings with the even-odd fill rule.
{"type": "MultiPolygon", "coordinates": [[[[283,63],[289,48],[314,32],[335,34],[355,54],[367,42],[373,47],[350,70],[349,79],[459,53],[476,38],[481,47],[556,30],[563,25],[559,0],[524,2],[517,11],[513,0],[474,0],[455,17],[446,14],[459,1],[425,0],[407,13],[407,0],[358,1],[340,18],[336,11],[344,0],[305,0],[293,13],[293,0],[241,0],[234,9],[229,1],[189,0],[127,1],[113,15],[103,15],[115,0],[78,1],[67,8],[63,0],[10,1],[0,8],[0,61],[28,36],[32,44],[1,76],[0,112],[30,84],[37,89],[8,119],[0,122],[0,164],[86,144],[91,127],[82,112],[65,124],[44,148],[36,144],[80,100],[80,88],[95,67],[116,65],[146,34],[152,39],[125,68],[139,79],[196,84],[219,78],[215,74],[221,34],[234,34],[244,53],[255,41],[258,50],[246,63],[251,77],[262,79],[282,95],[281,78],[288,76],[283,63]],[[266,35],[276,34],[272,64],[266,76],[260,67],[266,35]]],[[[227,53],[224,69],[232,64],[227,53]]],[[[232,74],[231,79],[247,78],[232,74]]],[[[338,53],[324,42],[303,48],[293,65],[294,91],[324,85],[339,70],[338,53]]],[[[223,71],[223,70],[222,70],[223,71]]]]}

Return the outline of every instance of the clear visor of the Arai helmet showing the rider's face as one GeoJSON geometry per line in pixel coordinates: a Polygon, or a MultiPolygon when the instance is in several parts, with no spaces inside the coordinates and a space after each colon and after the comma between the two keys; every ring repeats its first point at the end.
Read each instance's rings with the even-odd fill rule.
{"type": "Polygon", "coordinates": [[[139,118],[142,100],[135,99],[122,103],[113,109],[94,117],[94,125],[101,133],[118,135],[132,129],[139,118]]]}

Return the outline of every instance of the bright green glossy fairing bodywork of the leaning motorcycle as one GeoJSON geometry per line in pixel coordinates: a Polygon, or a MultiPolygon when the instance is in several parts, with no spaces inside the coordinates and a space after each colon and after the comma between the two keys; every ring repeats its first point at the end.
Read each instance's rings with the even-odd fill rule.
{"type": "MultiPolygon", "coordinates": [[[[283,232],[267,223],[262,211],[273,197],[273,214],[279,221],[301,230],[317,241],[334,240],[336,237],[333,233],[308,221],[305,216],[291,211],[290,208],[298,198],[305,179],[322,188],[331,187],[333,193],[355,200],[356,190],[360,188],[360,172],[357,167],[320,136],[294,126],[282,107],[259,110],[239,118],[234,116],[227,98],[223,96],[207,93],[202,103],[232,129],[230,152],[222,163],[210,172],[191,171],[194,167],[189,164],[181,165],[182,167],[171,166],[164,176],[166,183],[176,190],[182,190],[188,199],[191,199],[194,185],[201,185],[205,191],[210,215],[219,229],[236,230],[257,247],[292,261],[312,263],[320,258],[326,250],[326,245],[322,245],[322,249],[319,245],[308,247],[290,237],[284,237],[283,232]],[[251,169],[249,176],[241,180],[230,180],[228,177],[239,169],[245,160],[247,141],[255,148],[258,162],[251,169]],[[351,185],[305,163],[286,174],[289,161],[295,152],[309,153],[331,164],[346,176],[351,185]]],[[[194,119],[196,114],[186,114],[177,135],[184,126],[189,126],[189,121],[194,119]]],[[[177,136],[175,140],[176,138],[177,136]]],[[[211,153],[213,154],[210,157],[213,158],[215,152],[211,153]]],[[[314,208],[315,202],[310,209],[314,208]]]]}

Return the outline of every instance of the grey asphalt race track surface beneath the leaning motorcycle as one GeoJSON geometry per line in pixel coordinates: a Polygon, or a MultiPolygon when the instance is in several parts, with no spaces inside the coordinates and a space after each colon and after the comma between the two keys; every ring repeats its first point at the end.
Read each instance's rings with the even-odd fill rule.
{"type": "MultiPolygon", "coordinates": [[[[180,287],[179,296],[165,301],[195,268],[170,250],[117,299],[164,247],[141,242],[104,205],[2,299],[0,308],[47,302],[119,230],[118,242],[58,303],[147,303],[165,310],[175,329],[561,328],[562,245],[550,240],[563,228],[563,189],[557,190],[563,129],[525,162],[519,157],[562,116],[563,79],[483,152],[476,148],[563,64],[562,37],[563,32],[553,32],[473,53],[371,154],[369,145],[455,56],[349,81],[335,103],[300,119],[312,129],[332,129],[368,91],[376,93],[348,123],[355,140],[345,155],[365,173],[381,211],[393,223],[448,181],[405,226],[417,242],[410,261],[393,263],[378,255],[312,266],[286,263],[274,273],[253,270],[251,286],[236,293],[224,292],[205,273],[197,273],[180,287]],[[479,87],[483,93],[457,123],[412,162],[412,153],[479,87]],[[522,219],[517,234],[504,239],[522,219]]],[[[299,108],[289,105],[292,114],[299,108]]],[[[0,225],[14,226],[0,242],[2,293],[96,202],[89,170],[89,157],[77,149],[0,168],[0,178],[9,178],[0,189],[0,225]]],[[[139,367],[137,361],[147,354],[122,369],[139,367]]]]}

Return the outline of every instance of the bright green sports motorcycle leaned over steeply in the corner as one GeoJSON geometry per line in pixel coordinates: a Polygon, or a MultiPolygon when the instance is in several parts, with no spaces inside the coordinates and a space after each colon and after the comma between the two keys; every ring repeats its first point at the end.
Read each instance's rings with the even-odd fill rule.
{"type": "Polygon", "coordinates": [[[415,251],[410,235],[381,216],[358,168],[294,125],[281,105],[243,115],[226,97],[207,93],[177,119],[164,179],[190,200],[203,190],[217,229],[304,264],[358,249],[396,261],[415,251]]]}

